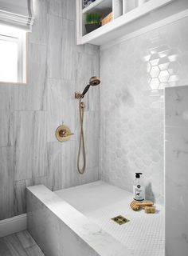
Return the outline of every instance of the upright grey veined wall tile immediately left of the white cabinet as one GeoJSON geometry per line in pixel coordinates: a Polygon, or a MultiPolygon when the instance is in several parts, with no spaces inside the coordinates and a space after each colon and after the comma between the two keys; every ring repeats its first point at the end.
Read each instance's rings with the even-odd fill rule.
{"type": "Polygon", "coordinates": [[[49,15],[48,47],[48,77],[74,80],[76,70],[75,23],[49,15]]]}

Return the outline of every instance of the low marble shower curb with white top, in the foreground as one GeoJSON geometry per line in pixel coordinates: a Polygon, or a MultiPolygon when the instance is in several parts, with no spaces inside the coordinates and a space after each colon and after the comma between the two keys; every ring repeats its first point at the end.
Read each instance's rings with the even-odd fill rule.
{"type": "Polygon", "coordinates": [[[29,187],[27,202],[29,232],[45,255],[61,256],[62,252],[65,256],[132,255],[95,222],[45,186],[29,187]]]}

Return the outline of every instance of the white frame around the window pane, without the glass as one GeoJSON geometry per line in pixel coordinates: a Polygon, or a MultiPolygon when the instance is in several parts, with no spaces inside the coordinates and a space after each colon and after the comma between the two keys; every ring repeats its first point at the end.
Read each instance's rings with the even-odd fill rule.
{"type": "MultiPolygon", "coordinates": [[[[16,42],[18,44],[18,81],[11,83],[26,83],[26,32],[21,30],[13,31],[1,31],[0,30],[0,40],[6,42],[16,42]]],[[[1,81],[0,83],[5,83],[1,81]]],[[[10,83],[10,81],[6,81],[10,83]]]]}

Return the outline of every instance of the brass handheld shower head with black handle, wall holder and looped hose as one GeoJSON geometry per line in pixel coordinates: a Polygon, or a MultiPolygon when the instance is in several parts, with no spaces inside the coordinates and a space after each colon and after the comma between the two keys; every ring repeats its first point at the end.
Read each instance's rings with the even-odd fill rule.
{"type": "Polygon", "coordinates": [[[100,84],[100,78],[92,77],[89,79],[88,85],[85,86],[83,93],[80,94],[78,92],[75,93],[75,98],[79,99],[79,114],[80,114],[80,142],[79,142],[79,150],[77,156],[77,170],[80,174],[84,174],[85,166],[86,166],[86,154],[85,154],[85,146],[84,146],[84,108],[85,104],[82,102],[84,98],[84,94],[87,93],[90,86],[98,86],[100,84]],[[80,167],[80,153],[82,150],[83,155],[83,166],[80,167]]]}

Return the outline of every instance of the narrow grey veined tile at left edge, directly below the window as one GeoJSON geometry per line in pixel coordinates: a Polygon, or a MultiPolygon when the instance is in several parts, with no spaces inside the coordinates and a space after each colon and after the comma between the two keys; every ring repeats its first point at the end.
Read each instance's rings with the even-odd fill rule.
{"type": "Polygon", "coordinates": [[[14,90],[0,84],[0,146],[13,145],[14,90]]]}

